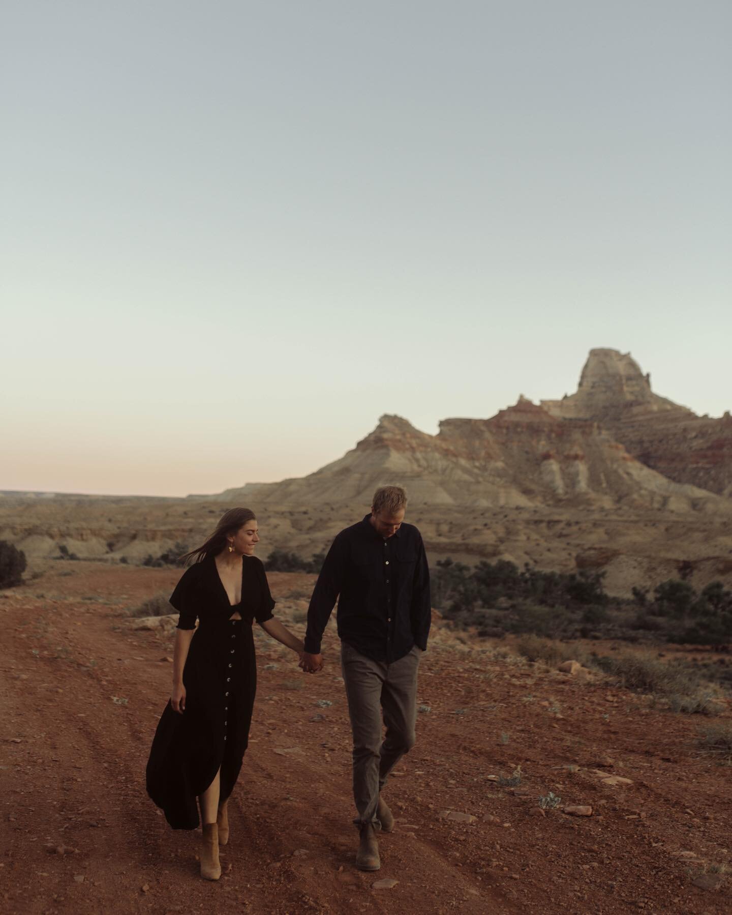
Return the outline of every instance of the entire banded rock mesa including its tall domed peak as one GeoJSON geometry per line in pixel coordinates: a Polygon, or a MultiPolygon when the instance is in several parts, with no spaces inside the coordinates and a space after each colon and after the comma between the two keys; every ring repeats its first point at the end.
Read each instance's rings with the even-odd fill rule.
{"type": "Polygon", "coordinates": [[[732,419],[699,417],[653,393],[630,353],[590,350],[576,393],[562,400],[521,395],[490,419],[445,419],[436,436],[384,414],[356,447],[307,477],[213,498],[368,504],[385,483],[404,485],[413,505],[727,512],[732,419]]]}

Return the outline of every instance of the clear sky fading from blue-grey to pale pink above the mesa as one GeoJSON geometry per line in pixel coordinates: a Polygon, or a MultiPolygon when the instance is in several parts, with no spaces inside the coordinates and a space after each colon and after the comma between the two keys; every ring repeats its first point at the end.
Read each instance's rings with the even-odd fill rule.
{"type": "Polygon", "coordinates": [[[301,476],[630,350],[732,408],[728,0],[4,0],[0,489],[301,476]]]}

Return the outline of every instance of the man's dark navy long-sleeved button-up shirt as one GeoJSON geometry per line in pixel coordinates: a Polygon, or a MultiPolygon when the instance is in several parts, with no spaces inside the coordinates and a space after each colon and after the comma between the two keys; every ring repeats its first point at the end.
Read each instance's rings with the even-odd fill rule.
{"type": "Polygon", "coordinates": [[[373,661],[398,661],[414,645],[425,651],[431,621],[429,568],[422,536],[402,524],[384,538],[371,515],[333,541],[307,610],[305,650],[320,653],[338,600],[338,634],[373,661]]]}

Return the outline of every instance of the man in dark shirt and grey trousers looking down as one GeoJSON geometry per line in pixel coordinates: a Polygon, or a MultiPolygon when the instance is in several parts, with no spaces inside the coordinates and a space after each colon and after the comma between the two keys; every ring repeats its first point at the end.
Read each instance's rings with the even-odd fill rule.
{"type": "Polygon", "coordinates": [[[307,610],[300,666],[323,666],[320,642],[336,600],[341,666],[353,732],[353,797],[360,831],[356,867],[378,870],[376,830],[393,815],[381,791],[396,763],[414,747],[417,668],[431,621],[425,545],[404,524],[401,487],[376,490],[371,514],[333,541],[307,610]],[[386,736],[382,739],[383,723],[386,736]]]}

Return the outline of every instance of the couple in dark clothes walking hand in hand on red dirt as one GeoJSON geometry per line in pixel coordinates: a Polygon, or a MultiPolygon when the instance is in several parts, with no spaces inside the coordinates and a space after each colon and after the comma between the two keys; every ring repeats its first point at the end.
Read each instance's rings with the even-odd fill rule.
{"type": "Polygon", "coordinates": [[[353,733],[356,867],[379,869],[377,831],[393,829],[382,789],[414,746],[417,669],[431,619],[425,545],[404,523],[405,511],[404,490],[382,487],[371,512],[336,536],[310,599],[304,643],[274,619],[264,565],[253,555],[259,542],[253,511],[225,512],[209,540],[186,554],[196,561],[170,597],[179,613],[173,690],[150,750],[146,787],[174,829],[197,828],[200,806],[201,877],[221,877],[219,845],[229,841],[227,803],[242,768],[256,690],[253,621],[296,651],[304,671],[318,673],[336,601],[353,733]]]}

